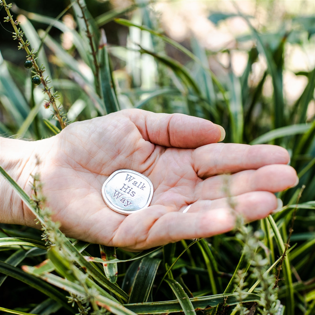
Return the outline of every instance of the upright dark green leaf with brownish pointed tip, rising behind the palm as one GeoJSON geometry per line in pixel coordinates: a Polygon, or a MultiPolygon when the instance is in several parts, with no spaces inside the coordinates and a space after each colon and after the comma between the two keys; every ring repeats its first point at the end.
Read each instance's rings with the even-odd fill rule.
{"type": "Polygon", "coordinates": [[[107,39],[105,31],[101,30],[101,41],[99,46],[100,54],[100,87],[104,106],[107,114],[117,112],[119,105],[116,93],[113,89],[112,74],[109,66],[107,39]]]}

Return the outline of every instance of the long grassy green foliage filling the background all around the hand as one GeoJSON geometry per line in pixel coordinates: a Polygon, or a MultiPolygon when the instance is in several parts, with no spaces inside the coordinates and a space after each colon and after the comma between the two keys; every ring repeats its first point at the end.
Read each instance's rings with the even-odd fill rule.
{"type": "MultiPolygon", "coordinates": [[[[117,265],[115,262],[113,268],[105,271],[101,260],[87,263],[83,258],[100,256],[98,245],[73,239],[70,242],[58,230],[54,232],[59,235],[63,250],[50,251],[49,261],[42,269],[30,267],[45,259],[40,232],[1,225],[3,307],[14,309],[17,314],[75,313],[81,307],[80,313],[84,314],[84,304],[101,296],[100,303],[111,307],[108,314],[180,310],[186,314],[245,314],[251,310],[249,313],[254,314],[258,301],[268,299],[263,293],[273,292],[268,285],[274,282],[272,272],[276,270],[272,267],[268,277],[264,272],[283,254],[294,215],[291,245],[295,247],[284,259],[284,280],[274,291],[279,298],[274,307],[278,307],[277,314],[314,314],[315,68],[314,60],[310,60],[308,66],[292,70],[290,61],[294,51],[314,48],[314,15],[287,15],[275,23],[276,29],[270,30],[266,25],[257,27],[255,18],[242,14],[242,8],[211,11],[209,21],[217,29],[237,18],[247,23],[247,32],[234,36],[232,44],[226,47],[209,49],[193,34],[181,44],[167,36],[164,29],[168,26],[161,22],[163,12],[158,13],[156,3],[15,3],[11,10],[18,15],[19,26],[31,48],[38,51],[37,63],[45,66],[45,74],[58,90],[58,104],[68,113],[68,120],[90,119],[134,107],[203,117],[226,129],[225,142],[285,147],[300,184],[278,193],[285,205],[282,212],[241,228],[237,236],[229,233],[189,245],[182,241],[137,255],[117,249],[117,265]],[[67,6],[68,10],[55,19],[67,6]],[[244,56],[240,71],[237,65],[244,56]],[[288,89],[288,77],[295,82],[291,89],[296,87],[296,91],[288,89]],[[295,92],[294,96],[289,92],[295,92]],[[305,189],[295,206],[302,185],[305,189]],[[29,265],[23,269],[29,273],[22,271],[21,265],[29,265]],[[118,278],[112,274],[116,268],[118,278]],[[89,278],[84,278],[83,270],[89,278]],[[6,279],[6,275],[10,277],[6,279]],[[262,290],[256,281],[261,282],[261,288],[267,287],[262,290]],[[67,286],[70,301],[77,306],[72,308],[67,303],[69,293],[51,284],[67,286]],[[239,284],[238,289],[235,284],[239,284]],[[94,290],[93,294],[85,296],[84,286],[89,293],[94,290]],[[242,293],[248,290],[252,293],[242,293]],[[130,304],[127,308],[119,308],[126,302],[130,304]],[[134,304],[137,302],[142,304],[134,304]],[[237,308],[232,306],[237,304],[237,308]]],[[[275,2],[269,4],[272,3],[275,2]]],[[[265,5],[259,1],[256,4],[265,5]]],[[[1,13],[6,16],[4,9],[1,13]]],[[[31,71],[23,66],[25,52],[16,49],[11,31],[11,25],[5,23],[0,32],[0,132],[33,140],[53,136],[60,125],[43,106],[42,87],[32,85],[31,71]]],[[[23,197],[23,192],[20,194],[23,197]]],[[[101,247],[101,251],[114,257],[112,249],[101,247]]],[[[3,307],[0,309],[5,311],[3,307]]],[[[273,314],[270,310],[260,313],[273,314]]],[[[89,313],[92,312],[93,309],[89,313]]],[[[93,314],[101,312],[106,314],[95,309],[93,314]]]]}

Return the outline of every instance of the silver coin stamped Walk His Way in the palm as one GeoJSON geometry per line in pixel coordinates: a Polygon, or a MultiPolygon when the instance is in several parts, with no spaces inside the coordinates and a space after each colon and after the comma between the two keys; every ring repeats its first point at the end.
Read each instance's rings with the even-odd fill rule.
{"type": "Polygon", "coordinates": [[[153,196],[153,185],[144,175],[131,169],[119,169],[102,187],[102,196],[109,208],[130,214],[146,208],[153,196]]]}

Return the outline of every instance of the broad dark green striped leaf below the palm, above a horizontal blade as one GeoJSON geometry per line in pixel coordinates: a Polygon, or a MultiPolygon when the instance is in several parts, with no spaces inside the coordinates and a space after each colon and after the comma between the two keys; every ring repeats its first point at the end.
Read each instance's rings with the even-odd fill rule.
{"type": "Polygon", "coordinates": [[[132,284],[128,303],[148,300],[160,262],[161,260],[156,258],[142,258],[132,284]]]}

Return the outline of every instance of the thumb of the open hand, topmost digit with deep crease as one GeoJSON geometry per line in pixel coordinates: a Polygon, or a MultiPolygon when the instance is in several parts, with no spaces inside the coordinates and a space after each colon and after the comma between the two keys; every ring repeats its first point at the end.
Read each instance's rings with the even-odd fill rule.
{"type": "Polygon", "coordinates": [[[203,118],[139,109],[121,112],[135,123],[145,140],[161,146],[197,148],[222,141],[225,137],[223,127],[203,118]]]}

